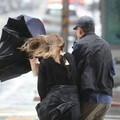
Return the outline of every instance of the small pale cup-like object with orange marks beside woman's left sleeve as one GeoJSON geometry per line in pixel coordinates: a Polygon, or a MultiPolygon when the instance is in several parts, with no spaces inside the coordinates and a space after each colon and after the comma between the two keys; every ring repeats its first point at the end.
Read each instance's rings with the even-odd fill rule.
{"type": "Polygon", "coordinates": [[[29,59],[29,61],[30,61],[33,76],[34,77],[38,76],[38,67],[39,67],[40,62],[38,61],[37,58],[29,59]]]}

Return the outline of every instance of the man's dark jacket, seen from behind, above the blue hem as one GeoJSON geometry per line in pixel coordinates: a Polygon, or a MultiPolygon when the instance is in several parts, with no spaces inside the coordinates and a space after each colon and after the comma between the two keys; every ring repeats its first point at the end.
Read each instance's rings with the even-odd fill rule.
{"type": "Polygon", "coordinates": [[[95,33],[88,33],[77,40],[73,51],[76,60],[80,93],[94,90],[112,96],[112,55],[109,44],[95,33]]]}

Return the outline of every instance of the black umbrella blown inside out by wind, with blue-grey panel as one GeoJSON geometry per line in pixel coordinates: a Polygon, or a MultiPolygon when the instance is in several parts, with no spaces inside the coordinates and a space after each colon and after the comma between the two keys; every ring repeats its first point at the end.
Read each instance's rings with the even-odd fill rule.
{"type": "Polygon", "coordinates": [[[18,77],[31,70],[27,54],[17,48],[27,38],[45,34],[44,25],[37,18],[20,15],[8,19],[0,40],[0,81],[18,77]]]}

